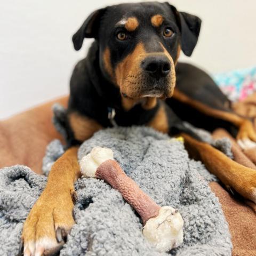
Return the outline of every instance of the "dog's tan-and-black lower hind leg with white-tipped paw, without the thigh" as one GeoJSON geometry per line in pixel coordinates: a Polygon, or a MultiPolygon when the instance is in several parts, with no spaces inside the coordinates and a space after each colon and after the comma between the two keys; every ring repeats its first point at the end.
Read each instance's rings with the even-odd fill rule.
{"type": "Polygon", "coordinates": [[[235,114],[232,110],[210,107],[190,98],[178,89],[175,89],[172,98],[168,103],[174,112],[178,116],[182,115],[182,111],[185,113],[181,119],[209,131],[223,127],[235,135],[239,145],[244,149],[256,146],[256,132],[249,119],[235,114]],[[176,108],[178,108],[177,111],[175,111],[176,108]],[[233,130],[230,131],[230,129],[233,130]]]}

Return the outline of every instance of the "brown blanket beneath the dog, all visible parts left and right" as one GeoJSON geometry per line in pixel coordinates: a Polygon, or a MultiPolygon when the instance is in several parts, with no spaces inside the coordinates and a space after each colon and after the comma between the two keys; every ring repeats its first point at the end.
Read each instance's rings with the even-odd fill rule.
{"type": "MultiPolygon", "coordinates": [[[[256,94],[254,95],[256,99],[256,94]]],[[[60,139],[60,135],[55,131],[51,118],[51,107],[54,102],[67,105],[67,97],[63,97],[42,106],[30,109],[21,114],[0,122],[0,168],[15,164],[29,166],[36,173],[41,173],[42,158],[45,154],[46,145],[55,138],[60,139]]],[[[256,102],[256,100],[254,100],[256,102]]],[[[254,113],[256,125],[256,105],[247,104],[241,113],[243,102],[234,108],[240,114],[246,116],[254,113]],[[250,109],[250,110],[249,110],[250,109]]],[[[256,127],[256,126],[255,126],[256,127]]],[[[226,131],[219,130],[214,132],[215,137],[226,136],[226,131]]],[[[242,150],[233,141],[233,154],[235,160],[246,166],[255,169],[253,162],[243,154],[242,150]]],[[[254,154],[252,154],[254,156],[254,154]]],[[[253,157],[251,157],[252,159],[253,157]]],[[[212,191],[219,197],[222,209],[229,223],[230,233],[233,241],[233,256],[255,256],[256,255],[256,214],[253,204],[249,207],[241,199],[231,196],[218,183],[210,183],[212,191]]],[[[254,207],[255,209],[255,207],[254,207]]],[[[256,209],[255,209],[256,210],[256,209]]]]}

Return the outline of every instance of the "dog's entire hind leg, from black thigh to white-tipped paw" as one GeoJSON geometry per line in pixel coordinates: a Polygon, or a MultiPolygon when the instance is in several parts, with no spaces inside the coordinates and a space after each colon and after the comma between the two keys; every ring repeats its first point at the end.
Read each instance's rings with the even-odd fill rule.
{"type": "Polygon", "coordinates": [[[188,63],[178,63],[175,71],[177,83],[166,103],[180,119],[210,132],[222,127],[244,149],[256,146],[252,122],[234,112],[226,95],[205,71],[188,63]]]}

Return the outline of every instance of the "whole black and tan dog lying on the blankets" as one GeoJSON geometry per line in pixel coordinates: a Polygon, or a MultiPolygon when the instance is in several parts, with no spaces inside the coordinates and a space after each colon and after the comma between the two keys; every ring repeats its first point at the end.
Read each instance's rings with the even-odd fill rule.
{"type": "Polygon", "coordinates": [[[177,63],[181,50],[188,56],[193,52],[200,27],[198,17],[157,2],[109,6],[85,20],[73,36],[75,49],[81,49],[84,38],[95,41],[71,77],[64,122],[70,148],[53,165],[46,188],[25,222],[26,256],[60,249],[75,223],[73,184],[80,175],[76,145],[114,123],[181,133],[192,156],[225,185],[256,203],[256,172],[199,141],[182,124],[188,121],[209,131],[225,127],[245,147],[256,141],[251,122],[233,113],[207,74],[177,63]]]}

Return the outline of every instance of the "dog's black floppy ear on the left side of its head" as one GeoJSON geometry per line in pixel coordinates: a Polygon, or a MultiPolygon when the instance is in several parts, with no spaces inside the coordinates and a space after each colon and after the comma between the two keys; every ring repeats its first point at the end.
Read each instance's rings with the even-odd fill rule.
{"type": "Polygon", "coordinates": [[[95,38],[98,36],[100,19],[105,10],[106,8],[102,8],[92,12],[89,17],[84,21],[82,26],[73,35],[72,41],[76,51],[81,49],[84,38],[95,38]]]}

